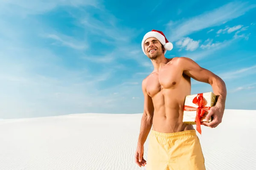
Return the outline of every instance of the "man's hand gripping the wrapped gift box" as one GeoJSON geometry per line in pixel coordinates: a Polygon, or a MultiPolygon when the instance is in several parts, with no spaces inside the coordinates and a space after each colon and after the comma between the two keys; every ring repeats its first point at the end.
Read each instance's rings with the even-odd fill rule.
{"type": "Polygon", "coordinates": [[[211,107],[206,116],[206,119],[209,120],[210,117],[212,116],[212,122],[202,122],[202,124],[211,128],[217,127],[222,122],[223,113],[224,110],[222,110],[220,107],[211,107]]]}

